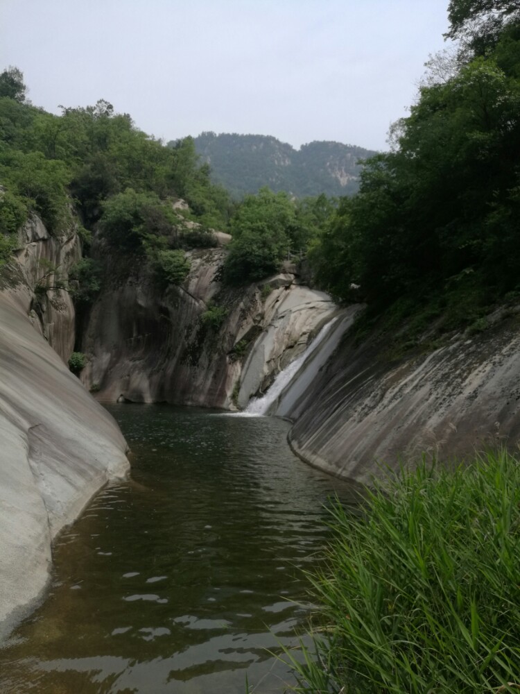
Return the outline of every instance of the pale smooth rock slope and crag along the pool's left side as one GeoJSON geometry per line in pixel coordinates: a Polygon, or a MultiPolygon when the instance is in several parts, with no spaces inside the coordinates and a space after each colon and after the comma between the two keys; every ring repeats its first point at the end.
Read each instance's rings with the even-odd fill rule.
{"type": "Polygon", "coordinates": [[[78,239],[60,247],[37,220],[24,234],[0,291],[0,635],[44,588],[55,535],[128,471],[116,423],[62,361],[73,348],[68,296],[34,291],[49,279],[40,260],[70,262],[78,239]]]}

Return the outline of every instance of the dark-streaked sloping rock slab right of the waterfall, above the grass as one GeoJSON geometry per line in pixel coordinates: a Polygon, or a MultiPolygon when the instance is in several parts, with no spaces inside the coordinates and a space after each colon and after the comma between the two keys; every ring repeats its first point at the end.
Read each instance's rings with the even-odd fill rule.
{"type": "Polygon", "coordinates": [[[369,482],[378,462],[471,455],[520,438],[520,325],[502,321],[478,337],[453,337],[428,355],[390,363],[383,346],[343,340],[282,413],[306,462],[369,482]]]}

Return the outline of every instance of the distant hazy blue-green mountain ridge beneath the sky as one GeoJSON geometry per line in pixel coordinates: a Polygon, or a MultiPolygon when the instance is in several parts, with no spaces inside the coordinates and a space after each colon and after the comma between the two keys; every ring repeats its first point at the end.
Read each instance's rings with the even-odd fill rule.
{"type": "Polygon", "coordinates": [[[311,142],[297,150],[269,135],[202,133],[194,142],[214,182],[237,198],[264,185],[297,198],[349,195],[358,189],[356,162],[375,154],[340,142],[311,142]]]}

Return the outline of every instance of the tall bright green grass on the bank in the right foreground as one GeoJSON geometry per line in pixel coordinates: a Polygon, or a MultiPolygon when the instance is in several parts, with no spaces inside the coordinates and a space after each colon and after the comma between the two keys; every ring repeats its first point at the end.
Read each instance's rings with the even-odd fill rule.
{"type": "Polygon", "coordinates": [[[336,503],[331,525],[324,568],[310,576],[313,649],[285,656],[291,691],[519,691],[517,458],[423,462],[380,482],[361,516],[336,503]]]}

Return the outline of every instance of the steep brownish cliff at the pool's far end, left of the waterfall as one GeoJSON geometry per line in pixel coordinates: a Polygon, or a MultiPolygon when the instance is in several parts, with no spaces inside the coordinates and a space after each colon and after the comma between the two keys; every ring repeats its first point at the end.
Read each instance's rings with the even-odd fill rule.
{"type": "Polygon", "coordinates": [[[336,311],[292,273],[225,289],[222,248],[190,255],[182,287],[157,291],[144,270],[94,305],[82,379],[101,400],[245,407],[336,311]]]}

